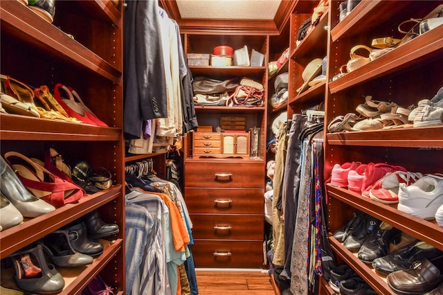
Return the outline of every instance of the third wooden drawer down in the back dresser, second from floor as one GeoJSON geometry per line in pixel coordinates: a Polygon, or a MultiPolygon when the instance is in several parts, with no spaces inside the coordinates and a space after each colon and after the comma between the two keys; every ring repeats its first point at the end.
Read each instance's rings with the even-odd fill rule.
{"type": "Polygon", "coordinates": [[[263,215],[190,214],[195,239],[263,240],[263,215]]]}

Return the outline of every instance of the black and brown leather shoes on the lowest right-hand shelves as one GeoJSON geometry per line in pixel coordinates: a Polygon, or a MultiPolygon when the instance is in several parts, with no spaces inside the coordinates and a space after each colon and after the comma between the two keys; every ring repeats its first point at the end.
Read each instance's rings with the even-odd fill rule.
{"type": "MultiPolygon", "coordinates": [[[[440,249],[410,238],[402,240],[401,231],[361,211],[356,211],[333,236],[343,242],[346,249],[358,251],[359,260],[386,276],[395,293],[441,294],[438,293],[443,287],[443,251],[440,249]]],[[[348,265],[331,269],[329,285],[338,294],[377,294],[348,265]]]]}

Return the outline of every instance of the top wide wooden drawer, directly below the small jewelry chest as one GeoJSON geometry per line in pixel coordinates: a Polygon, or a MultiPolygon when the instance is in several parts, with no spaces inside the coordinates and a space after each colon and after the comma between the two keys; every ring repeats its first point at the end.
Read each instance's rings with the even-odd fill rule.
{"type": "Polygon", "coordinates": [[[185,186],[195,188],[264,188],[264,161],[192,161],[186,163],[185,186]]]}

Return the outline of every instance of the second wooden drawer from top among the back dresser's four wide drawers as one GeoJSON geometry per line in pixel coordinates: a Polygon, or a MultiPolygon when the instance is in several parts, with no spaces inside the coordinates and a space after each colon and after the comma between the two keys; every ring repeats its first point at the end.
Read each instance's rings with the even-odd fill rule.
{"type": "Polygon", "coordinates": [[[190,213],[264,214],[263,188],[185,188],[190,213]]]}

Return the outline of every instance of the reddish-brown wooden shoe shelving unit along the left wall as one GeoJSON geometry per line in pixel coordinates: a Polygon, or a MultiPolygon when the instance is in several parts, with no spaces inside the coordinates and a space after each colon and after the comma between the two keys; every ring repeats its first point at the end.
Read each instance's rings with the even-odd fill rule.
{"type": "MultiPolygon", "coordinates": [[[[100,240],[104,252],[87,267],[67,271],[60,294],[79,294],[100,274],[115,294],[125,290],[125,143],[123,139],[123,1],[55,1],[53,23],[21,1],[0,1],[1,74],[31,88],[57,83],[77,91],[109,127],[0,114],[1,154],[20,152],[42,159],[55,148],[64,158],[82,159],[111,172],[113,186],[45,215],[0,231],[0,258],[93,210],[119,233],[100,240]],[[73,38],[71,38],[71,36],[73,38]]],[[[14,271],[12,271],[14,272],[14,271]]],[[[2,269],[3,278],[3,269],[2,269]]],[[[14,274],[11,276],[14,280],[14,274]]]]}

